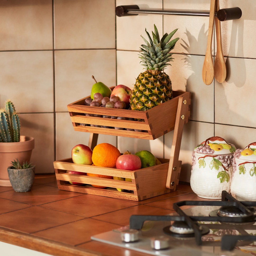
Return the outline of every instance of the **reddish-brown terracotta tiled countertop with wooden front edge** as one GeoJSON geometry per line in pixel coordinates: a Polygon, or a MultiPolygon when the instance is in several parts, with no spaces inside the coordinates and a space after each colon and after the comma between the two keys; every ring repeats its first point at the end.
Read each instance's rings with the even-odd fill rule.
{"type": "Polygon", "coordinates": [[[29,192],[0,187],[0,241],[56,256],[145,256],[90,237],[129,225],[131,215],[169,214],[182,200],[202,198],[178,185],[172,193],[128,201],[59,190],[55,175],[36,175],[29,192]]]}

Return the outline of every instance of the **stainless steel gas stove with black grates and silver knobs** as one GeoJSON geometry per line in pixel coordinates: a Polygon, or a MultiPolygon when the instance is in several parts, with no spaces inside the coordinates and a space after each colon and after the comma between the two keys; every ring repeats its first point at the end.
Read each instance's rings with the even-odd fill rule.
{"type": "Polygon", "coordinates": [[[132,215],[92,240],[158,256],[256,256],[256,202],[181,201],[170,215],[132,215]]]}

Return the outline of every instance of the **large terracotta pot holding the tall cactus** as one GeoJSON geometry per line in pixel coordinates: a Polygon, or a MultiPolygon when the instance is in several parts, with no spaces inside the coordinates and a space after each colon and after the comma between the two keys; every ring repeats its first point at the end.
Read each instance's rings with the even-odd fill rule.
{"type": "Polygon", "coordinates": [[[28,136],[20,136],[19,142],[0,142],[0,186],[12,186],[7,168],[16,158],[20,163],[24,161],[30,162],[34,147],[35,139],[28,136]]]}

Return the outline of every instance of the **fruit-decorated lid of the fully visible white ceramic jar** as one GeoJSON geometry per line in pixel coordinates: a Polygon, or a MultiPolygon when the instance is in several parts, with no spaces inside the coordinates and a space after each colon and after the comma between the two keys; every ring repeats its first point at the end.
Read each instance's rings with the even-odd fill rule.
{"type": "Polygon", "coordinates": [[[197,145],[194,151],[204,155],[227,155],[233,154],[236,151],[236,147],[226,142],[223,138],[215,136],[197,145]]]}

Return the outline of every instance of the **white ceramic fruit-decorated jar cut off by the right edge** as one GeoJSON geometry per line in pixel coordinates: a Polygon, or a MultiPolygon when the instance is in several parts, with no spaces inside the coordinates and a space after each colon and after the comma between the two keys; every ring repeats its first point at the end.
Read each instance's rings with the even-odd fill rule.
{"type": "Polygon", "coordinates": [[[256,201],[256,142],[234,153],[231,195],[239,201],[256,201]]]}

